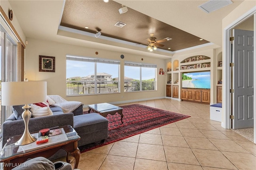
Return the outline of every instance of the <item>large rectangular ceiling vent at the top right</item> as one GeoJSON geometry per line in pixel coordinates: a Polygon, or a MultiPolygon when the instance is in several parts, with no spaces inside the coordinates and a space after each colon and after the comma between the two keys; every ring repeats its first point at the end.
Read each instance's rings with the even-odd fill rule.
{"type": "Polygon", "coordinates": [[[232,4],[231,0],[209,0],[204,4],[198,6],[201,10],[206,13],[214,12],[220,8],[223,8],[229,4],[232,4]]]}

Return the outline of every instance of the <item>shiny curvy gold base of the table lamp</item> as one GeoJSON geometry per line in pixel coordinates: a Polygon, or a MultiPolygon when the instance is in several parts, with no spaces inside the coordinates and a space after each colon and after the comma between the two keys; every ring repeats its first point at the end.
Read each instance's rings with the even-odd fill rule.
{"type": "Polygon", "coordinates": [[[30,143],[36,141],[36,138],[34,136],[32,136],[28,130],[28,122],[31,117],[31,112],[29,111],[30,108],[31,108],[31,106],[29,106],[29,105],[25,105],[22,107],[22,109],[25,110],[21,115],[22,119],[24,121],[24,124],[25,124],[25,129],[24,129],[24,133],[21,136],[20,140],[18,140],[18,142],[16,142],[15,145],[20,146],[20,145],[30,144],[30,143]]]}

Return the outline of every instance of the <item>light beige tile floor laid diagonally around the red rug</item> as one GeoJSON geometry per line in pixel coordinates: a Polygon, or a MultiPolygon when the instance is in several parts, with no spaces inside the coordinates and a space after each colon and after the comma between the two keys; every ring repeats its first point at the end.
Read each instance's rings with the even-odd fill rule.
{"type": "Polygon", "coordinates": [[[256,170],[256,144],[211,121],[209,105],[171,99],[122,105],[136,103],[191,117],[84,152],[80,170],[256,170]]]}

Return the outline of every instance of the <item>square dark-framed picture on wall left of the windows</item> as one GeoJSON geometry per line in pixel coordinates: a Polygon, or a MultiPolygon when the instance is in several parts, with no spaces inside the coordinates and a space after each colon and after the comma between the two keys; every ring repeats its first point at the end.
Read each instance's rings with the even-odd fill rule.
{"type": "Polygon", "coordinates": [[[39,71],[55,72],[55,57],[39,55],[39,71]]]}

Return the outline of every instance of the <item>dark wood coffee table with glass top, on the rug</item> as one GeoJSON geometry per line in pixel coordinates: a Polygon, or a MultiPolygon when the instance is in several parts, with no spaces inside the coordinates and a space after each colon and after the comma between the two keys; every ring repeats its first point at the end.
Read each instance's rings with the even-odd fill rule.
{"type": "Polygon", "coordinates": [[[102,115],[103,117],[106,117],[108,114],[110,115],[114,115],[116,113],[118,113],[119,115],[121,115],[121,122],[123,122],[123,108],[115,106],[115,105],[111,105],[109,103],[99,103],[99,104],[93,104],[93,105],[88,105],[89,110],[88,113],[90,113],[90,111],[94,111],[96,113],[99,113],[100,115],[102,115]]]}

